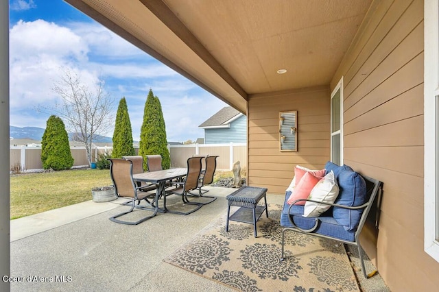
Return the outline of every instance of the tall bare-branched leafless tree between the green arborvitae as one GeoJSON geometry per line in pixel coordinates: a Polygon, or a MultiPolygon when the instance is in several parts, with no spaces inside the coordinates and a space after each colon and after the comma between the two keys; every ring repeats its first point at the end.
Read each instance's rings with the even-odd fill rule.
{"type": "Polygon", "coordinates": [[[62,73],[52,88],[62,102],[56,103],[50,110],[64,120],[68,132],[73,133],[73,141],[84,144],[90,164],[93,141],[105,136],[114,122],[114,99],[106,93],[103,80],[99,79],[90,89],[73,71],[63,69],[62,73]]]}

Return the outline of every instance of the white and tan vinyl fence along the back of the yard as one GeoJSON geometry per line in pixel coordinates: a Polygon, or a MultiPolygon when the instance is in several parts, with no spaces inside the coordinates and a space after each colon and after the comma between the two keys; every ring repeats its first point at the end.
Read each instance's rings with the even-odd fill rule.
{"type": "MultiPolygon", "coordinates": [[[[73,167],[88,166],[85,147],[71,147],[74,162],[73,167]]],[[[168,145],[171,156],[171,167],[187,167],[187,158],[194,155],[217,155],[217,169],[231,170],[239,160],[241,168],[247,165],[246,143],[227,144],[190,144],[168,145]]],[[[135,149],[136,154],[139,149],[135,149]]],[[[112,147],[94,147],[94,157],[106,152],[111,153],[112,147]]],[[[37,171],[43,169],[41,162],[41,147],[10,146],[10,169],[19,171],[37,171]]]]}

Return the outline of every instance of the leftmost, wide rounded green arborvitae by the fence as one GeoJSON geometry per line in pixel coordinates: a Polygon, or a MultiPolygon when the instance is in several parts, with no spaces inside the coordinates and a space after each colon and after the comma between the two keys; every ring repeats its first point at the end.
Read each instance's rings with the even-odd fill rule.
{"type": "Polygon", "coordinates": [[[73,167],[69,136],[62,119],[55,115],[50,116],[46,123],[41,141],[41,161],[44,169],[58,171],[73,167]]]}

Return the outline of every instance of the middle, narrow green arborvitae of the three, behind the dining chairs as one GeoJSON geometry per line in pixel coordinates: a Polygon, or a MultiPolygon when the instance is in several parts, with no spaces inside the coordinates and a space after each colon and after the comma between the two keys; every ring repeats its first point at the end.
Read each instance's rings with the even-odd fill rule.
{"type": "Polygon", "coordinates": [[[132,145],[132,129],[126,99],[123,97],[117,108],[115,132],[112,134],[112,158],[135,155],[132,145]]]}

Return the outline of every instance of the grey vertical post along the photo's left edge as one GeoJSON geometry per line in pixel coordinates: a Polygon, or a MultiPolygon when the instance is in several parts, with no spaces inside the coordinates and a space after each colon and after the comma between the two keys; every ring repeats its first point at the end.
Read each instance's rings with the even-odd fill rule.
{"type": "MultiPolygon", "coordinates": [[[[0,275],[10,277],[9,1],[0,1],[0,275]]],[[[10,282],[0,280],[0,291],[10,282]]]]}

